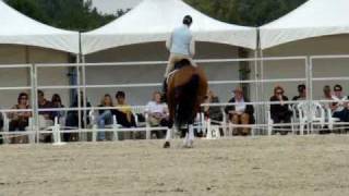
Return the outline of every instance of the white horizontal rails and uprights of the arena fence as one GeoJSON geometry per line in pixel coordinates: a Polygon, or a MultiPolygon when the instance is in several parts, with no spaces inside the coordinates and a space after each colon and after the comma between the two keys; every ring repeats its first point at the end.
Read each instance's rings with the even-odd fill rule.
{"type": "MultiPolygon", "coordinates": [[[[222,63],[229,63],[229,62],[250,62],[250,66],[253,68],[254,64],[254,79],[246,79],[246,81],[237,81],[237,79],[225,79],[225,81],[209,81],[209,85],[229,85],[229,84],[253,84],[254,88],[251,91],[255,93],[255,101],[249,102],[248,105],[253,105],[256,107],[256,119],[257,123],[253,125],[233,125],[234,127],[251,127],[251,128],[261,128],[265,130],[269,127],[269,124],[265,122],[266,113],[267,113],[267,106],[270,105],[278,105],[278,102],[270,102],[270,101],[263,101],[263,97],[265,97],[265,90],[264,85],[265,84],[274,84],[274,83],[305,83],[306,86],[309,86],[309,94],[306,97],[306,100],[304,100],[308,103],[311,103],[313,101],[318,102],[336,102],[336,101],[328,101],[328,100],[315,100],[313,99],[313,83],[323,81],[349,81],[349,76],[339,76],[339,77],[313,77],[313,68],[315,66],[314,61],[318,60],[325,60],[325,59],[349,59],[349,56],[312,56],[312,57],[305,57],[305,56],[299,56],[299,57],[263,57],[263,58],[248,58],[248,59],[200,59],[196,60],[197,63],[217,63],[216,66],[219,66],[222,63]],[[302,65],[304,65],[304,75],[305,77],[291,77],[291,78],[265,78],[265,71],[264,71],[264,62],[268,61],[301,61],[302,65]]],[[[116,109],[112,108],[98,108],[98,107],[86,107],[86,101],[81,101],[86,99],[86,90],[87,89],[104,89],[104,88],[143,88],[143,87],[159,87],[161,86],[161,83],[133,83],[133,84],[107,84],[107,85],[92,85],[86,84],[86,68],[92,66],[132,66],[132,68],[140,68],[140,66],[149,66],[149,65],[166,65],[167,61],[140,61],[140,62],[107,62],[107,63],[56,63],[56,64],[16,64],[16,65],[0,65],[1,69],[29,69],[31,70],[31,86],[16,86],[16,87],[0,87],[1,90],[31,90],[32,94],[32,109],[28,110],[13,110],[13,109],[0,109],[0,112],[2,113],[9,113],[9,112],[23,112],[23,111],[29,111],[33,112],[33,124],[31,127],[33,127],[32,132],[27,132],[33,134],[33,132],[36,133],[37,137],[39,137],[43,133],[51,133],[51,131],[40,131],[39,127],[39,120],[38,115],[39,112],[45,111],[84,111],[87,112],[88,110],[105,110],[105,109],[116,109]],[[40,68],[74,68],[76,69],[76,84],[75,85],[38,85],[38,69],[40,68]],[[53,109],[40,109],[37,105],[37,90],[38,89],[74,89],[77,91],[79,96],[79,106],[77,108],[53,108],[53,109]],[[83,94],[81,94],[83,91],[83,94]]],[[[253,78],[251,76],[251,78],[253,78]]],[[[304,102],[303,101],[303,102],[304,102]]],[[[285,103],[288,105],[294,105],[299,103],[300,101],[285,101],[285,103]]],[[[212,103],[207,105],[204,103],[202,107],[227,107],[227,106],[236,106],[236,103],[212,103]]],[[[132,107],[133,109],[144,110],[144,106],[136,106],[132,107]]],[[[96,130],[86,130],[83,128],[81,122],[86,122],[87,114],[84,114],[84,118],[82,117],[81,112],[79,112],[79,127],[76,130],[69,130],[69,131],[61,131],[61,133],[84,133],[84,132],[96,132],[96,130]]],[[[309,117],[310,118],[310,117],[309,117]]],[[[347,125],[346,123],[335,122],[338,125],[347,125]]],[[[308,131],[310,131],[310,124],[304,123],[308,125],[308,131]]],[[[313,125],[318,125],[318,123],[312,123],[313,125]]],[[[325,123],[326,124],[326,123],[325,123]]],[[[328,123],[327,123],[328,124],[328,123]]],[[[326,125],[327,125],[326,124],[326,125]]],[[[303,125],[301,123],[287,123],[287,124],[274,124],[274,126],[286,126],[286,125],[303,125]]],[[[130,131],[130,128],[127,128],[130,131]]],[[[103,130],[99,130],[103,131],[103,130]]],[[[112,132],[110,130],[105,130],[106,132],[112,132]]],[[[118,128],[118,131],[122,131],[122,128],[118,128]]],[[[133,131],[149,131],[148,127],[136,127],[133,128],[133,131]]],[[[151,131],[157,131],[157,127],[151,127],[151,131]]],[[[24,132],[11,132],[11,133],[1,133],[0,135],[5,134],[27,134],[24,132]]]]}

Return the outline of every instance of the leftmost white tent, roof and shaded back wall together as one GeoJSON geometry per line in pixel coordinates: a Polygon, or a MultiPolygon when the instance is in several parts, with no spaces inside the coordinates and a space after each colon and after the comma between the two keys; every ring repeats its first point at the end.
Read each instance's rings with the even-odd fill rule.
{"type": "MultiPolygon", "coordinates": [[[[0,1],[0,86],[17,87],[31,84],[28,69],[16,69],[23,63],[67,63],[71,53],[80,53],[79,33],[58,29],[29,19],[0,1]]],[[[38,69],[38,85],[69,85],[68,68],[38,69]]],[[[1,90],[0,108],[10,108],[21,90],[1,90]]],[[[25,90],[28,93],[28,90],[25,90]]],[[[48,89],[46,96],[59,93],[69,105],[69,90],[48,89]]]]}

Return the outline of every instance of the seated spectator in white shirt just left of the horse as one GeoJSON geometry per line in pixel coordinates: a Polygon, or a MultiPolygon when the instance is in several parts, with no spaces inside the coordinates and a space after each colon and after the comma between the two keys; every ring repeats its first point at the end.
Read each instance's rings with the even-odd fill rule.
{"type": "MultiPolygon", "coordinates": [[[[151,126],[168,126],[168,107],[161,102],[161,94],[155,91],[153,100],[146,106],[145,112],[148,114],[148,123],[151,126]]],[[[156,132],[156,137],[164,137],[164,133],[156,132]]]]}

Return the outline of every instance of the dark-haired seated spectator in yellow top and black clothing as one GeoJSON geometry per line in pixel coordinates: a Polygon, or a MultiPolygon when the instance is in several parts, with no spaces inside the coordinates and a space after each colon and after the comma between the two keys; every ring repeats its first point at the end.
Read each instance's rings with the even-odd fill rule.
{"type": "Polygon", "coordinates": [[[123,127],[135,127],[135,119],[132,113],[132,108],[125,101],[124,91],[118,91],[116,95],[118,109],[113,110],[113,114],[117,117],[117,121],[123,127]]]}

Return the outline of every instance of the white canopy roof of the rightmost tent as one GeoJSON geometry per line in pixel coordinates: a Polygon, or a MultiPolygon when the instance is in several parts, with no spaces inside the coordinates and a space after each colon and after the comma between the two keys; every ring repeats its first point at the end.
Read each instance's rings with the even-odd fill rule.
{"type": "Polygon", "coordinates": [[[326,35],[349,33],[348,0],[309,0],[289,14],[262,26],[261,48],[326,35]]]}

